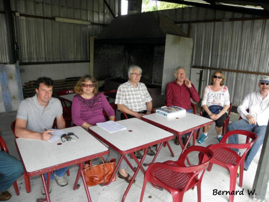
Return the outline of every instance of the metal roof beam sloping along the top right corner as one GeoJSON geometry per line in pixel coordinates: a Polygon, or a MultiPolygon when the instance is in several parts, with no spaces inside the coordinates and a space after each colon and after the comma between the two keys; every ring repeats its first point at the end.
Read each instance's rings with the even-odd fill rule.
{"type": "MultiPolygon", "coordinates": [[[[151,0],[154,1],[154,0],[151,0]]],[[[224,5],[208,5],[208,4],[201,4],[201,3],[195,3],[195,2],[186,2],[183,0],[158,0],[162,2],[169,2],[174,4],[183,4],[188,6],[194,6],[194,7],[202,7],[206,9],[214,9],[214,10],[221,10],[221,11],[230,11],[235,13],[244,13],[244,14],[250,14],[250,15],[257,15],[257,16],[269,16],[268,11],[264,10],[256,10],[256,9],[246,9],[241,7],[232,7],[232,6],[224,6],[224,5]]]]}

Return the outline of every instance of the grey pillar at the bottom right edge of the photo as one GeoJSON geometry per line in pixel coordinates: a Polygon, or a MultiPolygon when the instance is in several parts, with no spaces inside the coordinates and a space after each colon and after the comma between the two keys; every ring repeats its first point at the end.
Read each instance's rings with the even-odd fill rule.
{"type": "Polygon", "coordinates": [[[256,171],[252,192],[252,201],[264,201],[269,181],[269,121],[267,124],[263,145],[260,153],[258,168],[256,171]],[[255,192],[254,192],[255,190],[255,192]]]}

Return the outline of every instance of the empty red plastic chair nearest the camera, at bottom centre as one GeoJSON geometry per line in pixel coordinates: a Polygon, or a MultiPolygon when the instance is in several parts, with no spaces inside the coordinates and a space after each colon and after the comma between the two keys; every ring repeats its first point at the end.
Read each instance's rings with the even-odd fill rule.
{"type": "Polygon", "coordinates": [[[143,199],[147,182],[155,188],[163,187],[173,196],[173,201],[183,201],[184,193],[197,186],[198,202],[201,201],[201,182],[206,167],[213,158],[213,152],[202,146],[191,146],[179,157],[178,161],[167,161],[164,163],[153,163],[146,170],[144,183],[140,195],[140,202],[143,199]],[[187,167],[185,160],[192,151],[198,151],[198,164],[187,167]],[[200,175],[199,173],[202,172],[200,175]]]}

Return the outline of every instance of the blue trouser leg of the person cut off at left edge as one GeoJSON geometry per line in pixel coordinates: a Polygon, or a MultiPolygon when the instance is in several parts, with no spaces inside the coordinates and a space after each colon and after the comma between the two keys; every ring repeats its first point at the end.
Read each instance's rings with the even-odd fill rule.
{"type": "Polygon", "coordinates": [[[0,191],[6,191],[22,173],[21,162],[0,150],[0,191]]]}

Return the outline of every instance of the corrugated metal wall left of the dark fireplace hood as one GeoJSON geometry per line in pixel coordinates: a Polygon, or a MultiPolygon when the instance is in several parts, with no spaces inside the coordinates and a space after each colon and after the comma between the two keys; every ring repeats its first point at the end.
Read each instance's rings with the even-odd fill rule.
{"type": "MultiPolygon", "coordinates": [[[[4,10],[0,0],[0,10],[4,10]]],[[[11,10],[22,14],[64,17],[109,24],[114,18],[103,0],[11,0],[11,10]]],[[[109,0],[118,15],[118,0],[109,0]]],[[[0,63],[9,63],[5,15],[0,14],[0,63]]],[[[100,33],[102,25],[78,25],[49,19],[15,17],[20,63],[89,60],[89,36],[100,33]]]]}

